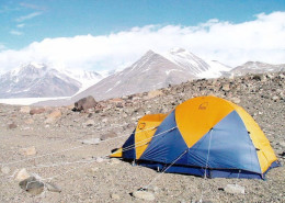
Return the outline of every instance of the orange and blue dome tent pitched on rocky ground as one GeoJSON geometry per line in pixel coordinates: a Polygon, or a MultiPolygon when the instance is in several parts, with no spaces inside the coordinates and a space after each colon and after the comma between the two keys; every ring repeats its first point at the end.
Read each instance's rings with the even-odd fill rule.
{"type": "Polygon", "coordinates": [[[163,172],[208,178],[264,179],[278,166],[252,116],[217,97],[190,99],[169,114],[142,116],[111,157],[163,172]]]}

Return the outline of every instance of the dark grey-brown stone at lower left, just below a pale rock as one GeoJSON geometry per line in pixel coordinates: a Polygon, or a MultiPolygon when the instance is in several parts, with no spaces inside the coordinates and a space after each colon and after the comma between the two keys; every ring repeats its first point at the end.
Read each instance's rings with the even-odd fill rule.
{"type": "Polygon", "coordinates": [[[35,177],[29,177],[27,179],[22,180],[19,185],[24,191],[37,195],[44,191],[45,184],[42,181],[38,181],[35,177]]]}

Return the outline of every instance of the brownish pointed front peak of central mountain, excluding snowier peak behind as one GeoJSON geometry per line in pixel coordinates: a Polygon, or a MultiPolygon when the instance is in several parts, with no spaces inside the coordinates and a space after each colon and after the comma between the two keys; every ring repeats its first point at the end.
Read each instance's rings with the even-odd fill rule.
{"type": "Polygon", "coordinates": [[[147,52],[130,67],[104,78],[76,95],[93,95],[98,100],[156,90],[168,84],[181,83],[195,76],[166,57],[147,52]]]}

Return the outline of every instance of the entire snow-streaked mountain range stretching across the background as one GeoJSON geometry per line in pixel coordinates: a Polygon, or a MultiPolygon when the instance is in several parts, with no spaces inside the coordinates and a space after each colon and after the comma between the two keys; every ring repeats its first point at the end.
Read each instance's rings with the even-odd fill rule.
{"type": "MultiPolygon", "coordinates": [[[[285,65],[249,61],[231,68],[217,60],[204,60],[194,54],[173,48],[167,54],[147,52],[132,66],[103,78],[94,71],[71,71],[48,68],[44,64],[30,63],[0,76],[0,98],[53,98],[58,104],[69,104],[87,95],[96,100],[118,98],[133,93],[178,84],[200,78],[241,76],[282,71],[285,65]]],[[[50,104],[49,101],[41,104],[50,104]]],[[[55,102],[53,102],[55,104],[55,102]]]]}

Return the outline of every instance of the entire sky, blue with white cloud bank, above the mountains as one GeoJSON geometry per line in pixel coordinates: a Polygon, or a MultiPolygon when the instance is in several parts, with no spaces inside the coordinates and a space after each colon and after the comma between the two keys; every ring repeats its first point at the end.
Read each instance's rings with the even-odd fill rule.
{"type": "Polygon", "coordinates": [[[0,1],[0,72],[30,61],[111,70],[173,47],[231,67],[285,64],[285,1],[0,1]]]}

